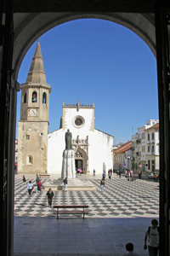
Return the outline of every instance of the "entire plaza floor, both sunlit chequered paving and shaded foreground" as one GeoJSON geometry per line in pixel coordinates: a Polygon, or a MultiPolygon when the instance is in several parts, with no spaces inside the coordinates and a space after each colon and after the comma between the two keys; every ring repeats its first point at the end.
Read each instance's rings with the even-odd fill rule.
{"type": "MultiPolygon", "coordinates": [[[[35,174],[26,181],[36,184],[35,174]]],[[[51,175],[50,179],[57,178],[51,175]]],[[[125,177],[105,178],[105,189],[99,187],[100,175],[82,175],[94,191],[56,191],[53,205],[88,205],[88,215],[62,216],[58,220],[48,207],[47,191],[28,195],[22,175],[15,175],[14,189],[14,255],[121,255],[125,245],[133,242],[134,252],[148,255],[144,232],[152,218],[159,218],[159,188],[153,181],[128,182],[125,177]]],[[[42,178],[44,183],[47,178],[42,178]]],[[[27,183],[26,182],[26,183],[27,183]]],[[[36,186],[35,186],[36,188],[36,186]]]]}

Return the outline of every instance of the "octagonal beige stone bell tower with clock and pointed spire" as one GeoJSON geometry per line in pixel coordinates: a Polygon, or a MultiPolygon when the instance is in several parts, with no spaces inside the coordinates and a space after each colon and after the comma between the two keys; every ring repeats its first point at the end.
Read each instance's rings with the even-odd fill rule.
{"type": "Polygon", "coordinates": [[[20,85],[18,172],[47,172],[50,84],[44,72],[40,42],[31,61],[26,83],[20,85]]]}

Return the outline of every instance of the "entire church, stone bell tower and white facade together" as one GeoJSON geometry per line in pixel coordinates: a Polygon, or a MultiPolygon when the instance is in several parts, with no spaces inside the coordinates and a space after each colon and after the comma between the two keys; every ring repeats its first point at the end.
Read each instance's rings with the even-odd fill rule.
{"type": "Polygon", "coordinates": [[[48,133],[48,106],[51,87],[46,82],[39,41],[26,84],[21,84],[18,128],[18,172],[60,174],[65,132],[72,134],[75,166],[83,173],[102,173],[113,167],[114,137],[94,128],[93,104],[63,102],[59,130],[48,133]]]}

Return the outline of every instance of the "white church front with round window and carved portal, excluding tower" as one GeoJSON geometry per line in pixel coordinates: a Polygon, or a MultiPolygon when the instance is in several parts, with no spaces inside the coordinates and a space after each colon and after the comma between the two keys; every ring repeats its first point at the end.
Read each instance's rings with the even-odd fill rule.
{"type": "Polygon", "coordinates": [[[65,150],[65,132],[72,133],[75,164],[82,172],[102,173],[113,167],[113,136],[94,128],[92,105],[65,104],[60,128],[48,133],[48,173],[61,173],[62,154],[65,150]]]}

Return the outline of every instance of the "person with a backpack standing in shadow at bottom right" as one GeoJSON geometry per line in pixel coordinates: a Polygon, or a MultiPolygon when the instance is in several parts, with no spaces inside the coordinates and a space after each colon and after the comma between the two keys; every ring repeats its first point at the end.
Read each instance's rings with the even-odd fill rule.
{"type": "Polygon", "coordinates": [[[159,227],[157,219],[152,219],[151,226],[144,233],[144,250],[147,249],[146,241],[148,239],[148,252],[150,256],[157,256],[159,251],[159,227]]]}

